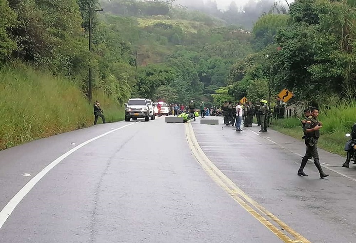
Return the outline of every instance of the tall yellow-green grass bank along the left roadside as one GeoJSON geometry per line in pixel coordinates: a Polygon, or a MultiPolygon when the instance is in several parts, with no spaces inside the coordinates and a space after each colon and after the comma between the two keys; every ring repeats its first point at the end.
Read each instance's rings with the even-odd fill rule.
{"type": "MultiPolygon", "coordinates": [[[[74,81],[24,65],[0,70],[0,95],[0,150],[88,127],[94,121],[93,104],[74,81]]],[[[113,98],[95,90],[95,100],[107,121],[123,120],[123,107],[113,98]]]]}

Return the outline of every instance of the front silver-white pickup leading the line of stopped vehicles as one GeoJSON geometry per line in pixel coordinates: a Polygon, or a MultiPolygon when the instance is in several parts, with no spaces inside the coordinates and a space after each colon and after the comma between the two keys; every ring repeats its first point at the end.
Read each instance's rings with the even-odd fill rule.
{"type": "Polygon", "coordinates": [[[145,121],[150,119],[150,107],[145,98],[131,98],[125,103],[125,121],[137,120],[144,118],[145,121]]]}

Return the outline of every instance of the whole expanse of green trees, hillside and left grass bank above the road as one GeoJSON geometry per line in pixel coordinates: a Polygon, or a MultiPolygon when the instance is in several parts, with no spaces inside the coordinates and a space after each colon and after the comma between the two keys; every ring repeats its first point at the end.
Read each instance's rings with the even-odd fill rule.
{"type": "Polygon", "coordinates": [[[0,112],[9,117],[0,149],[90,125],[89,68],[109,121],[122,119],[131,96],[209,106],[283,88],[291,102],[355,95],[355,1],[232,1],[226,10],[213,0],[0,4],[0,112]]]}

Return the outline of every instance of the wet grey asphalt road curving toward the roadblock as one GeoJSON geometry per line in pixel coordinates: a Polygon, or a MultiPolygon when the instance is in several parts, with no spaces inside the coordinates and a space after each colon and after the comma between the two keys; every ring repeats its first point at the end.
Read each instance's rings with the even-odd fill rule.
{"type": "MultiPolygon", "coordinates": [[[[29,189],[17,194],[22,200],[0,228],[0,242],[279,243],[284,234],[355,242],[356,181],[331,171],[320,180],[313,164],[305,170],[309,177],[298,177],[298,151],[287,149],[302,144],[277,132],[267,139],[253,132],[257,127],[238,133],[199,119],[191,125],[205,162],[231,182],[197,163],[203,156],[193,156],[190,126],[164,117],[100,124],[0,152],[0,223],[16,204],[10,200],[29,189]],[[48,173],[37,184],[26,184],[44,168],[48,173]],[[262,206],[273,215],[264,215],[262,206]]],[[[345,170],[352,178],[355,170],[345,170]]]]}

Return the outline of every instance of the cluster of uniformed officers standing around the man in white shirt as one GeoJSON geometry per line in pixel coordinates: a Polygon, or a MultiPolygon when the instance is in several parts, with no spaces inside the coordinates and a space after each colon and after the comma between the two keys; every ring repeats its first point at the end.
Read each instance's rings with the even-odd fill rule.
{"type": "MultiPolygon", "coordinates": [[[[260,100],[256,105],[251,102],[245,102],[241,105],[243,109],[243,126],[252,127],[253,119],[256,115],[257,124],[261,126],[260,133],[267,132],[269,127],[269,121],[271,118],[271,110],[267,105],[266,100],[260,100]]],[[[235,125],[236,122],[236,107],[239,103],[227,102],[221,105],[220,109],[224,117],[224,124],[235,125]]]]}

